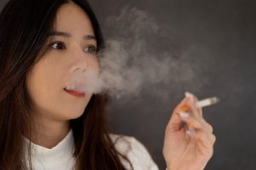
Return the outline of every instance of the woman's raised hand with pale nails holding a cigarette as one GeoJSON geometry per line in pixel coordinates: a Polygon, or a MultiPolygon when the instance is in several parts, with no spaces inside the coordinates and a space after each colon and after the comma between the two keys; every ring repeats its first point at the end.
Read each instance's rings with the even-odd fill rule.
{"type": "Polygon", "coordinates": [[[196,97],[186,93],[166,127],[163,155],[168,170],[202,170],[213,154],[215,136],[212,126],[195,107],[196,97]],[[182,111],[186,106],[188,111],[182,111]],[[185,126],[181,126],[186,122],[185,126]]]}

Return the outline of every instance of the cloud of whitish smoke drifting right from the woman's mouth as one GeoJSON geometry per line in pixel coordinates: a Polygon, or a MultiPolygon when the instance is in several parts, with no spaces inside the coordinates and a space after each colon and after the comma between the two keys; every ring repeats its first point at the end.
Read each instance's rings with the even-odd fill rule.
{"type": "Polygon", "coordinates": [[[118,16],[108,17],[106,24],[106,49],[99,54],[101,73],[99,77],[90,76],[94,80],[91,92],[107,91],[120,98],[148,89],[150,94],[163,98],[170,88],[158,85],[178,87],[195,77],[196,68],[189,63],[193,50],[177,59],[172,52],[172,38],[166,37],[163,28],[145,11],[123,8],[118,16]]]}

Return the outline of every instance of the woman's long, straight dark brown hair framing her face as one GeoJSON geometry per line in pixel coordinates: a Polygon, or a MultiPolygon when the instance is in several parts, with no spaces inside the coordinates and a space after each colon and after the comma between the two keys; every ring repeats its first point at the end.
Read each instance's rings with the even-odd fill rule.
{"type": "MultiPolygon", "coordinates": [[[[88,14],[98,51],[104,48],[96,16],[85,0],[73,0],[88,14]]],[[[24,160],[24,139],[32,133],[32,99],[26,76],[54,30],[55,15],[68,0],[11,0],[0,15],[0,169],[30,169],[24,160]]],[[[107,95],[93,95],[84,114],[72,120],[77,169],[125,169],[108,134],[104,117],[107,95]]]]}

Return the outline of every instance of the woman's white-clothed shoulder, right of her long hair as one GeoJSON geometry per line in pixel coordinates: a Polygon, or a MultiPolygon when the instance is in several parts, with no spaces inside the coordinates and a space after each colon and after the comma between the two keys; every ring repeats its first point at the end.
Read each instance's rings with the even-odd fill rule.
{"type": "MultiPolygon", "coordinates": [[[[157,165],[154,163],[146,147],[136,138],[113,133],[109,134],[109,136],[116,150],[131,161],[134,170],[158,170],[157,165]]],[[[128,162],[122,159],[122,157],[120,157],[120,159],[127,169],[131,169],[128,162]]]]}

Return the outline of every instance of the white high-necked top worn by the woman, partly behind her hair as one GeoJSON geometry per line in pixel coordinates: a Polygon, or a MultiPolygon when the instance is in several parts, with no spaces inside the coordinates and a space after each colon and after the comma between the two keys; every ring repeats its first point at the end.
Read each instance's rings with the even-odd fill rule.
{"type": "MultiPolygon", "coordinates": [[[[119,135],[110,134],[113,142],[119,138],[119,135]]],[[[26,139],[25,156],[28,163],[29,140],[26,139]]],[[[32,169],[33,170],[73,170],[75,158],[73,157],[73,131],[71,130],[67,136],[55,147],[48,149],[38,144],[32,145],[32,169]]],[[[158,170],[159,168],[152,160],[148,150],[137,139],[133,137],[122,137],[117,140],[115,147],[119,152],[131,161],[135,170],[158,170]]],[[[129,163],[120,157],[125,169],[130,170],[129,163]]]]}

